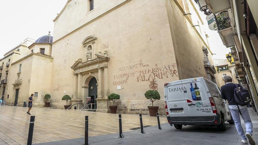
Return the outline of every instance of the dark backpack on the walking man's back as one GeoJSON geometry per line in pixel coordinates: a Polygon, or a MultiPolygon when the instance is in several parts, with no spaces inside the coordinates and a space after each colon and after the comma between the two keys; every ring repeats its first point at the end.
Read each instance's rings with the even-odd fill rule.
{"type": "Polygon", "coordinates": [[[251,102],[249,91],[245,88],[239,87],[237,84],[235,85],[236,85],[236,88],[235,88],[234,96],[235,96],[237,105],[245,106],[249,102],[251,102]]]}

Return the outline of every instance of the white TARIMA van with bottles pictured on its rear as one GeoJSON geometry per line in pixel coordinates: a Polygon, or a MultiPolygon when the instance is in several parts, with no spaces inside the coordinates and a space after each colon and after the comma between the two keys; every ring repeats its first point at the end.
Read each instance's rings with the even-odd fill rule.
{"type": "Polygon", "coordinates": [[[166,83],[164,94],[167,120],[176,129],[182,125],[216,125],[225,131],[225,121],[235,123],[220,88],[203,77],[166,83]]]}

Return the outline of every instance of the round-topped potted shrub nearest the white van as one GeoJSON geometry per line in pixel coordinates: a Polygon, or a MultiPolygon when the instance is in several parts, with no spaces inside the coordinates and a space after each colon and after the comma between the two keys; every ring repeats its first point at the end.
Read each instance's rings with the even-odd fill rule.
{"type": "Polygon", "coordinates": [[[148,106],[150,116],[157,116],[156,113],[158,112],[159,106],[153,106],[153,102],[160,99],[159,92],[156,90],[148,90],[144,95],[152,102],[152,106],[148,106]]]}

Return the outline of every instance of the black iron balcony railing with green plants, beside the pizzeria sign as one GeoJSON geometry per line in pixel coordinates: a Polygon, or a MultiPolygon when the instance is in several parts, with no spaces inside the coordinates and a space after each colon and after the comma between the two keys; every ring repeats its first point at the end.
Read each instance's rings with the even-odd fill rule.
{"type": "Polygon", "coordinates": [[[228,11],[217,13],[215,20],[216,20],[216,23],[214,24],[213,28],[217,30],[223,30],[231,27],[228,11]]]}

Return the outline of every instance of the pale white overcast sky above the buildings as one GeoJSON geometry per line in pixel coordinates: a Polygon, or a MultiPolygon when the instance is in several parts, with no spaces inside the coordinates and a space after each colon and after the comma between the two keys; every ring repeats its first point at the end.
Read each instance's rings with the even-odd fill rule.
{"type": "MultiPolygon", "coordinates": [[[[1,0],[0,1],[0,58],[7,51],[19,45],[26,38],[38,39],[51,31],[53,19],[60,13],[67,0],[1,0]]],[[[205,15],[199,11],[207,25],[206,33],[213,58],[225,59],[230,51],[223,45],[217,31],[208,29],[205,15]]]]}

